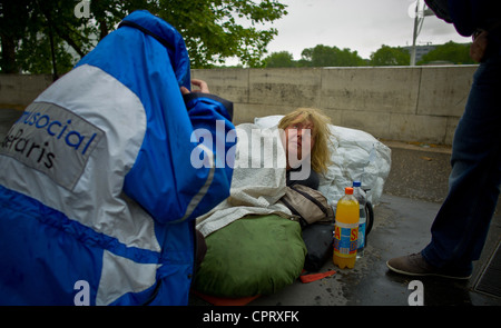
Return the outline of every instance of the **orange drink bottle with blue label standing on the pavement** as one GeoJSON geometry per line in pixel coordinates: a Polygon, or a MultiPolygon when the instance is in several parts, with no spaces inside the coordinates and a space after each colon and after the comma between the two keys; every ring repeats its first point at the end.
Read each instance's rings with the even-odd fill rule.
{"type": "Polygon", "coordinates": [[[340,269],[353,269],[356,261],[360,208],[353,196],[353,188],[347,187],[344,192],[336,207],[333,261],[340,269]]]}

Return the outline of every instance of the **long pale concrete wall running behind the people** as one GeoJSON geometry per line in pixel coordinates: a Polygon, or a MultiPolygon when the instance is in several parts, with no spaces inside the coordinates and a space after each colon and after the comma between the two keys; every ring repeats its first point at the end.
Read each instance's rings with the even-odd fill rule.
{"type": "MultiPolygon", "coordinates": [[[[452,142],[477,66],[193,70],[235,103],[235,123],[321,108],[334,125],[376,138],[452,142]]],[[[21,110],[50,76],[0,74],[0,111],[21,110]]],[[[1,117],[1,113],[0,113],[1,117]]]]}

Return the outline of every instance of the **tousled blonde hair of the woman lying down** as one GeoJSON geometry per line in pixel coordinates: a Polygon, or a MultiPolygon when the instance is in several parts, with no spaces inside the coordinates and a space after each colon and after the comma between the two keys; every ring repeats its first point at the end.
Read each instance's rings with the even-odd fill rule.
{"type": "Polygon", "coordinates": [[[332,165],[331,147],[332,132],[328,128],[331,118],[316,108],[298,108],[281,119],[278,128],[285,130],[291,125],[310,120],[313,123],[311,131],[315,143],[312,149],[312,169],[318,173],[325,173],[332,165]]]}

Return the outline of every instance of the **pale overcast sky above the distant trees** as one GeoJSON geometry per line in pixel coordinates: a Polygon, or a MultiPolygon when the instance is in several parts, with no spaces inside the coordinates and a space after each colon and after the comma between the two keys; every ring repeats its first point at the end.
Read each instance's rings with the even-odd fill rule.
{"type": "MultiPolygon", "coordinates": [[[[288,51],[301,59],[305,48],[317,44],[350,48],[369,59],[382,44],[412,46],[414,19],[409,7],[415,0],[282,0],[287,4],[285,17],[272,26],[278,36],[269,42],[268,54],[288,51]]],[[[421,0],[423,2],[423,0],[421,0]]],[[[426,17],[416,44],[442,44],[448,41],[470,42],[458,34],[454,27],[426,17]]]]}

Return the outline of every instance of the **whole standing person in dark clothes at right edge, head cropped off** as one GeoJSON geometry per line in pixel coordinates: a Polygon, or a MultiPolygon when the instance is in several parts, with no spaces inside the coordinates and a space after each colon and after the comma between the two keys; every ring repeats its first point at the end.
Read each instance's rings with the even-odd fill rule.
{"type": "Polygon", "coordinates": [[[473,36],[470,54],[480,66],[454,132],[449,193],[433,221],[431,242],[421,252],[390,259],[386,265],[407,276],[469,279],[500,195],[501,2],[425,2],[461,36],[473,36]]]}

